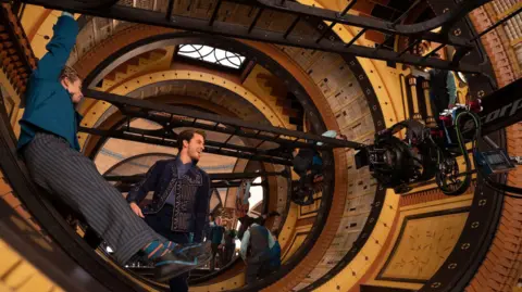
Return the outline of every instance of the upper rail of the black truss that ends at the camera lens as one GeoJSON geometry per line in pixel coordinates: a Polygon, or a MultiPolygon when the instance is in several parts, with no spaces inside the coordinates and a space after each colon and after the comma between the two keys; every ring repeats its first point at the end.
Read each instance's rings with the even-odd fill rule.
{"type": "Polygon", "coordinates": [[[117,106],[123,114],[129,113],[132,117],[148,118],[159,123],[165,128],[200,128],[243,138],[270,141],[287,149],[314,148],[318,150],[331,150],[334,148],[357,149],[363,147],[363,144],[358,142],[254,124],[239,118],[221,116],[169,104],[158,104],[148,100],[137,100],[98,90],[86,89],[84,90],[84,93],[87,98],[102,100],[117,106]],[[322,142],[323,145],[319,147],[316,145],[316,142],[322,142]]]}

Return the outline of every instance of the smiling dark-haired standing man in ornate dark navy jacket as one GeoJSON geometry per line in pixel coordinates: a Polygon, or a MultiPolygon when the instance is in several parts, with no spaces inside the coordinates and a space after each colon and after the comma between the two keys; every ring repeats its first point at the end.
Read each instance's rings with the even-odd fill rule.
{"type": "MultiPolygon", "coordinates": [[[[181,244],[202,242],[209,214],[210,178],[196,164],[203,151],[204,134],[184,130],[177,137],[175,160],[157,162],[145,179],[128,192],[130,208],[158,233],[181,244]],[[152,203],[139,203],[153,191],[152,203]]],[[[210,258],[210,252],[207,254],[210,258]]],[[[188,272],[172,278],[171,291],[188,291],[188,272]]]]}

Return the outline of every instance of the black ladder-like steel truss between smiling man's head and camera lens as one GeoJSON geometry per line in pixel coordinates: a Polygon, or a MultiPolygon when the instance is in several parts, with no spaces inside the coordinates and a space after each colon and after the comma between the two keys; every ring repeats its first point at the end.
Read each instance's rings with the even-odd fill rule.
{"type": "Polygon", "coordinates": [[[91,89],[84,90],[84,93],[88,98],[111,103],[125,116],[123,125],[120,123],[111,129],[78,128],[79,131],[90,135],[175,148],[177,147],[177,135],[174,129],[190,127],[228,135],[225,141],[207,139],[204,152],[288,166],[291,165],[293,160],[290,151],[295,148],[331,150],[333,148],[363,147],[358,142],[248,123],[238,118],[137,100],[114,93],[91,89]],[[162,128],[157,130],[134,128],[129,126],[133,118],[146,118],[158,123],[162,128]],[[245,145],[229,143],[234,137],[243,138],[245,145]],[[275,143],[278,147],[261,149],[266,142],[275,143]],[[323,145],[319,147],[318,142],[322,142],[323,145]]]}

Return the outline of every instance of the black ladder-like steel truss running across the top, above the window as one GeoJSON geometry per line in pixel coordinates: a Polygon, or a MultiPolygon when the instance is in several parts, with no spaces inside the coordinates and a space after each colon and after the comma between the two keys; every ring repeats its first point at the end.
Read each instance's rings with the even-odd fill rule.
{"type": "MultiPolygon", "coordinates": [[[[9,0],[0,1],[11,2],[9,0]]],[[[95,4],[86,5],[85,2],[88,1],[20,0],[15,2],[133,23],[172,27],[189,31],[250,39],[261,42],[278,43],[341,54],[347,53],[362,58],[385,60],[415,66],[428,66],[462,73],[486,72],[486,64],[476,65],[461,62],[462,58],[475,47],[477,38],[464,39],[453,36],[449,31],[451,26],[464,17],[469,12],[490,0],[461,1],[457,9],[448,11],[443,15],[422,23],[408,25],[401,24],[400,22],[408,15],[413,7],[419,4],[420,0],[415,1],[408,11],[394,22],[348,14],[349,10],[353,8],[357,1],[358,0],[351,0],[341,12],[337,12],[287,0],[214,0],[212,2],[213,5],[211,5],[212,13],[210,13],[208,18],[196,18],[175,14],[175,0],[170,0],[166,8],[157,8],[157,10],[137,9],[121,4],[108,7],[108,3],[114,3],[114,1],[91,1],[92,3],[98,2],[102,9],[95,8],[95,4]],[[223,17],[220,18],[220,8],[222,8],[223,2],[234,2],[250,8],[251,15],[249,14],[248,18],[251,20],[251,23],[249,25],[243,25],[226,20],[226,17],[224,20],[223,17]],[[268,30],[260,28],[258,25],[260,17],[263,13],[272,11],[282,13],[285,17],[289,17],[294,21],[285,30],[268,30]],[[298,35],[294,31],[300,22],[310,22],[312,20],[325,23],[325,25],[326,23],[330,23],[328,29],[323,30],[320,36],[298,35]],[[332,31],[332,28],[336,24],[353,26],[361,29],[352,39],[345,42],[334,37],[335,33],[332,31]],[[442,27],[439,33],[431,31],[438,27],[442,27]],[[368,30],[376,30],[387,35],[384,42],[396,36],[409,37],[411,39],[410,46],[400,52],[395,52],[393,50],[383,49],[384,42],[380,45],[377,43],[375,48],[356,45],[355,42],[368,30]],[[422,40],[434,41],[440,45],[424,56],[409,52],[414,45],[422,40]],[[432,58],[436,51],[445,46],[453,46],[456,48],[456,53],[452,56],[452,60],[447,61],[432,58]]],[[[482,36],[482,34],[477,37],[480,36],[482,36]]]]}

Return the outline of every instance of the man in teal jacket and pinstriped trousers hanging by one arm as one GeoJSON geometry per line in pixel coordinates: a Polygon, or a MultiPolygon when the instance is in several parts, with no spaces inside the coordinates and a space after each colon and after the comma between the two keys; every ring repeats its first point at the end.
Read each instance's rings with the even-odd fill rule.
{"type": "Polygon", "coordinates": [[[198,261],[210,244],[182,246],[156,233],[133,213],[121,192],[101,177],[95,164],[79,153],[76,132],[82,116],[75,103],[83,98],[82,80],[65,66],[78,24],[64,12],[53,30],[48,52],[29,78],[26,109],[20,122],[17,149],[34,181],[82,214],[115,251],[122,266],[141,253],[157,266],[158,279],[164,280],[204,264],[198,261]]]}

